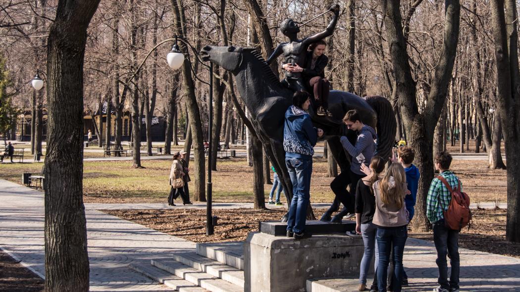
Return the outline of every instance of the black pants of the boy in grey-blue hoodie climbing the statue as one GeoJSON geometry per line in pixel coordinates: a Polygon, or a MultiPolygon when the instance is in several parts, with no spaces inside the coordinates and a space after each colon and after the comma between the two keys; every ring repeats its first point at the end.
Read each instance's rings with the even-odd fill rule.
{"type": "Polygon", "coordinates": [[[343,206],[348,209],[349,213],[354,213],[357,182],[363,177],[365,176],[355,174],[352,172],[352,170],[349,169],[348,171],[342,171],[341,174],[334,178],[334,180],[330,183],[330,188],[336,197],[334,198],[332,206],[329,208],[331,213],[339,208],[339,202],[341,202],[343,206]],[[347,192],[347,186],[349,183],[352,184],[350,185],[350,191],[347,192]],[[333,207],[335,210],[331,210],[333,207]]]}

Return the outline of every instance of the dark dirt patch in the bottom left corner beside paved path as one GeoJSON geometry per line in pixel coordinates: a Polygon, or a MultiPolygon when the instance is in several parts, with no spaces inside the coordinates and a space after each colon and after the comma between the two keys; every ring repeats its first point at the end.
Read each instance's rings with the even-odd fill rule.
{"type": "Polygon", "coordinates": [[[0,291],[36,292],[44,291],[45,282],[0,250],[0,291]]]}

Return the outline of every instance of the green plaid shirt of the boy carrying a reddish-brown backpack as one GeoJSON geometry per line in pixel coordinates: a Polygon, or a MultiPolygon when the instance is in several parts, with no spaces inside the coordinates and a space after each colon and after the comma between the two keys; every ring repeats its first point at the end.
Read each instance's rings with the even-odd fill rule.
{"type": "MultiPolygon", "coordinates": [[[[452,171],[446,170],[441,174],[451,186],[451,189],[457,188],[459,185],[459,178],[453,174],[452,171]]],[[[462,191],[462,182],[460,184],[462,191]]],[[[430,190],[428,190],[428,197],[426,198],[426,217],[430,222],[435,223],[444,218],[443,211],[448,210],[451,202],[451,194],[448,192],[446,185],[438,178],[432,180],[430,190]],[[440,199],[440,200],[439,200],[440,199]],[[439,206],[440,201],[440,206],[439,206]]]]}

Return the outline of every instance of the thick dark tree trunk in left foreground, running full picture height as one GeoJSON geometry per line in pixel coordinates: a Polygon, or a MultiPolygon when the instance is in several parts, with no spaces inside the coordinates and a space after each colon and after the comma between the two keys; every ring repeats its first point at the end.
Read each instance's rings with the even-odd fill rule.
{"type": "Polygon", "coordinates": [[[59,1],[47,42],[45,290],[89,290],[83,205],[83,58],[99,0],[59,1]]]}

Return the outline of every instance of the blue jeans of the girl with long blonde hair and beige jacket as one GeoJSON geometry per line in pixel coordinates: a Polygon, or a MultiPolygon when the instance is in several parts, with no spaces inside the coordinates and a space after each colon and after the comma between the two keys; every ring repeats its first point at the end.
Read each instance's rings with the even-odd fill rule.
{"type": "Polygon", "coordinates": [[[375,239],[379,248],[379,264],[378,264],[378,288],[379,292],[386,292],[386,276],[390,254],[393,250],[394,254],[394,275],[393,275],[393,291],[401,292],[402,281],[402,254],[405,250],[406,238],[408,230],[405,226],[399,228],[378,228],[375,239]]]}

